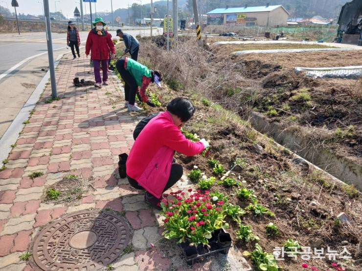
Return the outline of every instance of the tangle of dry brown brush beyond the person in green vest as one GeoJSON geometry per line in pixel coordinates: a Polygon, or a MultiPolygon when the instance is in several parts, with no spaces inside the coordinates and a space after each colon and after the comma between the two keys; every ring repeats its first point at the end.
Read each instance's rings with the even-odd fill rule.
{"type": "Polygon", "coordinates": [[[164,81],[177,90],[200,93],[238,113],[242,96],[257,97],[257,83],[247,79],[246,65],[241,59],[215,55],[205,44],[199,47],[193,39],[179,42],[178,48],[170,51],[151,42],[144,42],[141,48],[142,62],[160,70],[164,81]]]}

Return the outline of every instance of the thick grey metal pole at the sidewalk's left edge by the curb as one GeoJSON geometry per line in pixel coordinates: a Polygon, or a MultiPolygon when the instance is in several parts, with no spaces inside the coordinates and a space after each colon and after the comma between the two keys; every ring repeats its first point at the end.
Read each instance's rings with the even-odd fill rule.
{"type": "Polygon", "coordinates": [[[57,98],[57,82],[55,80],[54,57],[53,57],[53,44],[51,42],[51,26],[50,26],[50,12],[49,0],[44,0],[44,15],[45,15],[45,28],[46,28],[46,44],[48,46],[48,59],[51,83],[51,97],[57,98]]]}

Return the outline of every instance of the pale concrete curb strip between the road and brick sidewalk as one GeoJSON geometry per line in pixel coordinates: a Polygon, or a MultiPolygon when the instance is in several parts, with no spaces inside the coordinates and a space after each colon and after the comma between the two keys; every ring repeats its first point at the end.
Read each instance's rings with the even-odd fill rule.
{"type": "MultiPolygon", "coordinates": [[[[57,59],[55,60],[54,67],[56,68],[58,64],[60,63],[60,60],[63,58],[64,55],[68,54],[60,54],[58,55],[57,59]]],[[[26,103],[23,105],[22,109],[20,109],[18,115],[15,117],[11,125],[7,128],[6,132],[3,134],[3,136],[0,139],[0,161],[3,161],[9,156],[9,153],[12,150],[11,145],[16,142],[18,139],[19,133],[23,130],[24,124],[23,122],[26,121],[30,116],[30,111],[34,109],[35,105],[39,101],[40,95],[42,95],[45,85],[48,82],[50,78],[50,71],[48,70],[43,77],[43,79],[40,81],[40,83],[37,85],[37,87],[34,89],[33,93],[30,95],[29,99],[26,101],[26,103]]],[[[4,164],[1,162],[2,166],[4,164]]]]}

